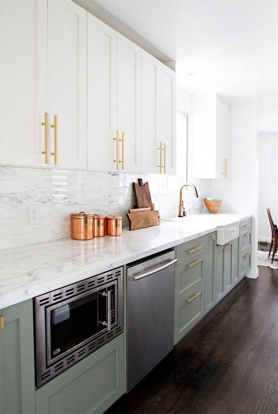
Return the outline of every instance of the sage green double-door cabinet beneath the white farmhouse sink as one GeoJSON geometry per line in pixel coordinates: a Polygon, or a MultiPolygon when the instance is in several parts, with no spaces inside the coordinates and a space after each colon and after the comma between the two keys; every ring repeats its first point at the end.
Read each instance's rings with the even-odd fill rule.
{"type": "Polygon", "coordinates": [[[239,281],[239,239],[216,247],[216,302],[239,281]]]}

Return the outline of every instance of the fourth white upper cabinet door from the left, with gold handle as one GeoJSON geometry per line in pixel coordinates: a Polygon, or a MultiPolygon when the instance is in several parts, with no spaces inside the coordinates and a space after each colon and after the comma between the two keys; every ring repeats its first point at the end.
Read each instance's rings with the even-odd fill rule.
{"type": "MultiPolygon", "coordinates": [[[[140,172],[141,49],[120,34],[117,34],[117,46],[118,169],[140,172]]],[[[117,158],[116,150],[115,154],[117,158]]]]}

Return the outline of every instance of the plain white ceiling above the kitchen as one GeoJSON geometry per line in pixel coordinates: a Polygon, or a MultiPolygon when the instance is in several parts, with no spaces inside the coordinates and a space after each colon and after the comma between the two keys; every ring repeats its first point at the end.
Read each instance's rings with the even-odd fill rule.
{"type": "Polygon", "coordinates": [[[278,0],[74,1],[176,61],[177,83],[188,93],[278,105],[278,0]]]}

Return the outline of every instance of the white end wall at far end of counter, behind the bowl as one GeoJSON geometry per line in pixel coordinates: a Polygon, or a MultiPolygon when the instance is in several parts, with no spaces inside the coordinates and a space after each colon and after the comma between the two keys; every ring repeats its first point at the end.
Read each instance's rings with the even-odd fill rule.
{"type": "Polygon", "coordinates": [[[222,199],[222,211],[253,215],[252,269],[257,276],[258,240],[258,108],[252,102],[231,106],[231,179],[211,180],[211,196],[222,199]]]}

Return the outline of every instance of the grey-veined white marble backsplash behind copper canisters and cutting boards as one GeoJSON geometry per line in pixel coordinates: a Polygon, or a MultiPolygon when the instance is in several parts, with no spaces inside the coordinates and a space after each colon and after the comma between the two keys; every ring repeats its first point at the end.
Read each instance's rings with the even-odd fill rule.
{"type": "MultiPolygon", "coordinates": [[[[185,182],[177,176],[30,167],[0,167],[0,249],[26,246],[70,237],[70,213],[126,213],[135,201],[132,182],[148,181],[155,208],[162,218],[178,211],[178,196],[185,182]],[[39,221],[29,224],[29,206],[36,206],[39,221]]],[[[205,211],[210,180],[194,181],[199,199],[184,191],[189,213],[205,211]]]]}

